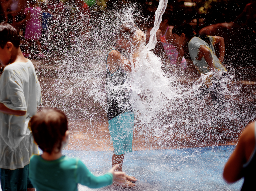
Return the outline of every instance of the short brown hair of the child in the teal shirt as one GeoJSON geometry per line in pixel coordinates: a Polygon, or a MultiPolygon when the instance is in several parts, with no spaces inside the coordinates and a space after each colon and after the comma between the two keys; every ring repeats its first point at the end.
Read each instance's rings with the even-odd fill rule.
{"type": "Polygon", "coordinates": [[[34,141],[40,149],[51,154],[55,146],[60,150],[61,141],[68,130],[68,120],[63,111],[43,109],[30,121],[34,141]]]}

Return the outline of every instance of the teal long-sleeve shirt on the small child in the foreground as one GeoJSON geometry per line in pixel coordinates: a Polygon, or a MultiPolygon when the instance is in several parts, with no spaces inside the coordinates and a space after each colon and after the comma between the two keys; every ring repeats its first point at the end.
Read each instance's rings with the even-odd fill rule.
{"type": "Polygon", "coordinates": [[[47,161],[34,155],[30,159],[29,179],[37,191],[77,191],[77,184],[101,188],[112,184],[113,175],[94,176],[78,158],[62,156],[47,161]]]}

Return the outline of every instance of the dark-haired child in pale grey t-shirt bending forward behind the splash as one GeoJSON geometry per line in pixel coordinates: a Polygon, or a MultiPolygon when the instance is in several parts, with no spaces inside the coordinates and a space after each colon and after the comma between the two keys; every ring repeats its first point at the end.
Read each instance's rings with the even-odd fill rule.
{"type": "MultiPolygon", "coordinates": [[[[222,65],[225,45],[222,37],[195,35],[194,29],[187,23],[175,26],[172,33],[173,37],[167,38],[167,41],[178,48],[180,58],[184,55],[183,49],[187,50],[200,74],[217,71],[222,71],[223,75],[225,74],[227,70],[222,65]],[[214,47],[218,47],[219,57],[216,56],[214,47]]],[[[223,106],[224,96],[222,95],[221,84],[212,74],[207,77],[202,88],[204,88],[205,93],[210,93],[215,107],[223,106]]]]}

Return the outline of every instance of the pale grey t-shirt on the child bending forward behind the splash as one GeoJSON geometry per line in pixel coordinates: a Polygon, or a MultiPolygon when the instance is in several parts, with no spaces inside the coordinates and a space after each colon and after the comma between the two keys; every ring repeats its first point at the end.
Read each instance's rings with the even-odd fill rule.
{"type": "Polygon", "coordinates": [[[193,61],[194,65],[196,66],[196,68],[198,69],[198,71],[200,73],[207,73],[210,72],[209,68],[208,68],[208,64],[205,61],[204,57],[202,57],[201,60],[197,60],[197,54],[198,54],[198,50],[200,48],[201,45],[207,47],[210,52],[211,52],[211,56],[213,59],[213,67],[216,70],[221,70],[223,72],[226,72],[226,68],[221,64],[221,61],[219,61],[218,57],[215,55],[215,50],[213,47],[213,42],[214,42],[214,38],[212,36],[208,36],[210,38],[210,44],[211,46],[209,46],[209,44],[207,42],[205,42],[204,40],[202,40],[201,38],[198,37],[193,37],[191,38],[191,40],[188,42],[188,51],[189,51],[189,55],[191,57],[191,60],[193,61]]]}

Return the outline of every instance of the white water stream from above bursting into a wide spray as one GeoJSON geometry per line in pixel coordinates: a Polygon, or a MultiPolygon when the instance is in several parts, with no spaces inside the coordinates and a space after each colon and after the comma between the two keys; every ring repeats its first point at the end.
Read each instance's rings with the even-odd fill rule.
{"type": "MultiPolygon", "coordinates": [[[[241,95],[241,87],[233,84],[234,76],[208,73],[191,80],[186,73],[173,72],[167,77],[161,69],[161,59],[150,51],[155,48],[155,34],[166,5],[167,0],[159,1],[150,41],[132,63],[134,69],[127,74],[124,85],[119,87],[130,90],[136,115],[134,139],[142,138],[148,149],[152,145],[186,147],[237,140],[241,127],[252,118],[242,115],[244,110],[236,98],[241,95]],[[210,95],[202,88],[210,75],[215,76],[213,84],[220,84],[220,93],[226,99],[222,109],[214,107],[210,95]]],[[[86,119],[93,127],[91,131],[106,123],[105,58],[115,45],[116,31],[123,23],[133,25],[134,18],[147,21],[136,5],[110,10],[109,15],[103,15],[90,26],[90,33],[74,37],[75,44],[55,63],[58,68],[53,75],[54,83],[42,87],[47,92],[43,95],[44,105],[64,110],[71,123],[86,119]],[[53,91],[57,92],[54,96],[53,91]]]]}

